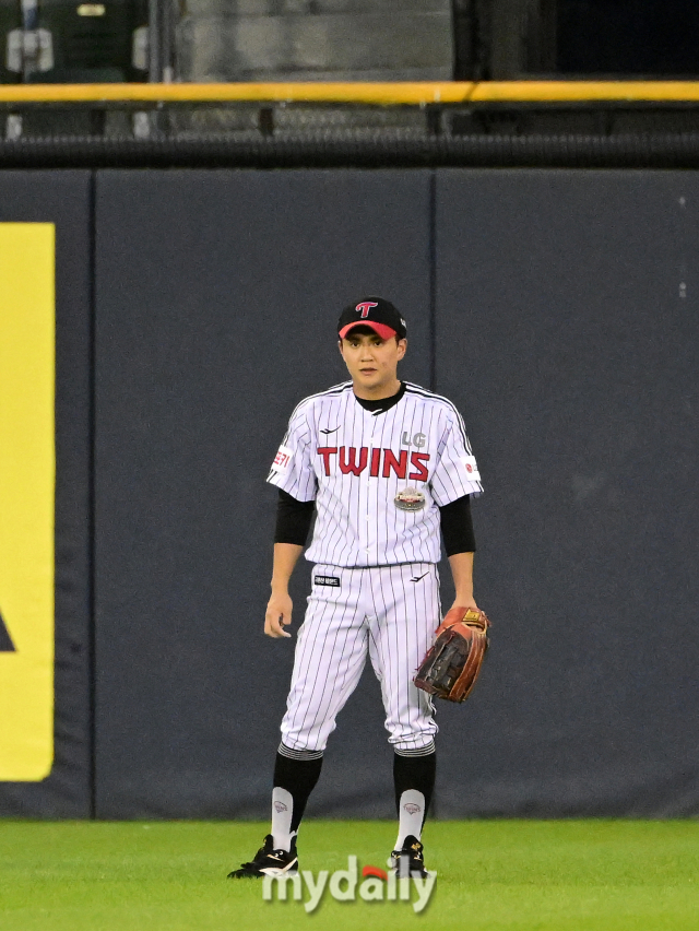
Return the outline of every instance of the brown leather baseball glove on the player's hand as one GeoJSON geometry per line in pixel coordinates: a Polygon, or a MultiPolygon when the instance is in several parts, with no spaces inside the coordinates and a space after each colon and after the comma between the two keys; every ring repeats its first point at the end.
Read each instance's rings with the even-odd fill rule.
{"type": "Polygon", "coordinates": [[[490,622],[483,611],[452,608],[437,628],[437,639],[413,682],[438,698],[465,702],[488,648],[490,622]]]}

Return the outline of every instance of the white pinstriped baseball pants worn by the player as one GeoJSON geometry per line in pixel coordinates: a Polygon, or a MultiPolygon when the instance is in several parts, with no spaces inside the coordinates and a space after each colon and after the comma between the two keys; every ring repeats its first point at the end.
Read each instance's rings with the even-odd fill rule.
{"type": "Polygon", "coordinates": [[[381,684],[389,743],[419,750],[437,733],[430,697],[413,684],[440,621],[433,563],[347,569],[317,565],[298,632],[282,743],[324,750],[367,653],[381,684]],[[340,586],[317,579],[339,579],[340,586]]]}

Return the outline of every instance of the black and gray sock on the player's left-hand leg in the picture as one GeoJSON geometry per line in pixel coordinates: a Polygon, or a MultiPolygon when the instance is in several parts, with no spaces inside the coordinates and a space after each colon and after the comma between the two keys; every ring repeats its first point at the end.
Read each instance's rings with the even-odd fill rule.
{"type": "Polygon", "coordinates": [[[293,751],[283,744],[274,764],[272,834],[274,848],[291,850],[323,765],[321,752],[293,751]],[[289,756],[287,754],[294,754],[289,756]]]}

